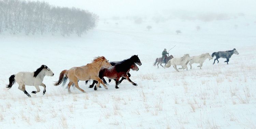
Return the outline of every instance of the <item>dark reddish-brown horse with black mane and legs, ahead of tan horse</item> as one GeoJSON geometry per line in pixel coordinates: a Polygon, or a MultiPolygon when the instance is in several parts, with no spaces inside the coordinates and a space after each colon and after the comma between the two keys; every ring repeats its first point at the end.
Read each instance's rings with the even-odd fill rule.
{"type": "MultiPolygon", "coordinates": [[[[115,79],[115,82],[116,82],[115,88],[119,88],[117,85],[121,77],[125,77],[129,82],[137,86],[137,84],[132,82],[127,75],[127,72],[130,71],[130,69],[136,70],[136,71],[139,70],[138,66],[135,63],[138,63],[141,65],[140,59],[138,58],[137,55],[133,55],[131,58],[127,60],[120,61],[116,65],[112,66],[110,69],[102,68],[100,70],[99,77],[101,79],[103,77],[107,77],[109,79],[115,79]]],[[[95,83],[96,81],[94,81],[93,84],[90,85],[90,88],[93,88],[95,83]]],[[[94,90],[97,90],[97,89],[94,88],[94,90]]]]}

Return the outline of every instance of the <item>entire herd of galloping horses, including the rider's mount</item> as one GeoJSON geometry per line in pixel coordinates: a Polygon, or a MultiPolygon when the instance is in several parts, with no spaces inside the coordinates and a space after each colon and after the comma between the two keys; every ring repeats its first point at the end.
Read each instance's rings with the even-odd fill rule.
{"type": "MultiPolygon", "coordinates": [[[[173,65],[174,69],[176,71],[179,71],[177,69],[177,65],[182,66],[182,68],[179,69],[187,69],[187,64],[189,63],[190,69],[192,69],[191,64],[193,63],[199,63],[200,65],[198,67],[202,67],[203,62],[208,58],[209,60],[213,59],[215,56],[215,61],[219,58],[226,58],[227,60],[225,62],[229,62],[229,59],[233,54],[239,54],[236,49],[230,50],[230,51],[218,51],[213,52],[212,55],[209,53],[204,53],[198,56],[190,57],[189,54],[184,54],[183,57],[180,58],[174,58],[172,55],[166,58],[165,62],[161,62],[162,59],[157,58],[156,62],[154,63],[154,66],[156,63],[165,63],[164,68],[170,67],[173,65]]],[[[214,64],[213,63],[213,64],[214,64]]],[[[219,61],[218,61],[219,63],[219,61]]],[[[54,83],[55,86],[58,86],[62,83],[62,86],[64,86],[69,80],[68,83],[68,92],[71,93],[70,87],[71,85],[74,85],[77,89],[79,89],[81,92],[85,93],[85,91],[79,87],[78,82],[79,81],[86,81],[86,83],[89,80],[93,80],[93,84],[89,86],[89,88],[93,88],[94,90],[97,90],[100,87],[100,84],[104,86],[105,89],[108,89],[108,86],[106,86],[107,82],[105,81],[104,77],[107,77],[109,79],[109,82],[111,80],[115,80],[115,88],[119,88],[118,84],[120,84],[124,79],[127,79],[132,85],[137,86],[136,83],[132,82],[129,78],[131,75],[129,73],[130,70],[138,71],[138,66],[141,66],[142,63],[138,57],[138,55],[132,55],[131,58],[123,60],[123,61],[114,61],[109,62],[105,57],[96,57],[91,63],[88,63],[84,66],[80,67],[72,67],[69,70],[62,70],[59,75],[59,80],[54,83]],[[121,79],[120,79],[121,78],[121,79]],[[95,85],[96,83],[96,85],[95,85]],[[95,85],[95,86],[94,86],[95,85]]],[[[157,64],[157,66],[158,66],[157,64]]],[[[162,66],[162,65],[161,65],[162,66]]],[[[163,66],[162,66],[163,67],[163,66]]],[[[158,67],[159,68],[159,67],[158,67]]],[[[23,91],[28,97],[31,97],[30,94],[26,91],[25,85],[35,86],[37,91],[32,91],[31,93],[36,94],[40,92],[39,86],[44,87],[43,95],[46,92],[46,86],[43,83],[43,79],[45,76],[54,76],[53,71],[48,68],[46,65],[42,65],[40,68],[35,70],[34,72],[18,72],[15,75],[11,75],[9,78],[9,84],[6,86],[6,88],[11,88],[15,82],[18,83],[18,89],[23,91]]]]}

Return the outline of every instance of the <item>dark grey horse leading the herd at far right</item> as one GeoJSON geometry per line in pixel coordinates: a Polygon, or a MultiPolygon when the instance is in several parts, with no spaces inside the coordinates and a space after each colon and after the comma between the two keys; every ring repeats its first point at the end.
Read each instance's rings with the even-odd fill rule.
{"type": "MultiPolygon", "coordinates": [[[[227,62],[227,64],[228,64],[229,58],[231,58],[231,56],[232,56],[233,54],[237,54],[237,55],[239,54],[239,53],[237,52],[236,48],[234,48],[233,50],[230,50],[230,51],[218,51],[218,52],[213,52],[213,53],[212,53],[212,57],[214,57],[214,55],[215,55],[215,57],[216,57],[216,58],[214,59],[213,64],[215,64],[215,61],[216,61],[216,60],[218,61],[219,58],[226,58],[227,61],[224,61],[224,62],[227,62]]],[[[218,63],[219,63],[219,61],[218,61],[218,63]]]]}

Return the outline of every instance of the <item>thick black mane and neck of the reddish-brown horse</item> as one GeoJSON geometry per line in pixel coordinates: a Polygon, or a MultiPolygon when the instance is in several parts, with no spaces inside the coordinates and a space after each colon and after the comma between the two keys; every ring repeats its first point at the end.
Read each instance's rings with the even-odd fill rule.
{"type": "Polygon", "coordinates": [[[116,71],[120,72],[120,71],[126,71],[129,70],[131,65],[135,62],[136,59],[136,55],[133,55],[131,58],[129,59],[125,59],[123,61],[120,61],[119,63],[117,63],[115,65],[116,71]]]}

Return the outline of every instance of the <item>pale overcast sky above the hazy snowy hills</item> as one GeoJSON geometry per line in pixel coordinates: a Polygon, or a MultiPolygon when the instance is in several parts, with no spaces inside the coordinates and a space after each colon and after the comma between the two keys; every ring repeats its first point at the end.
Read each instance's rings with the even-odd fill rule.
{"type": "Polygon", "coordinates": [[[78,7],[100,16],[153,15],[163,11],[245,13],[256,15],[256,0],[39,0],[57,6],[78,7]]]}

